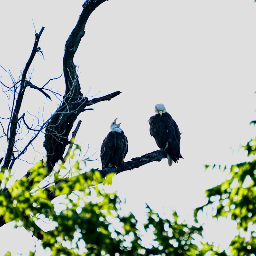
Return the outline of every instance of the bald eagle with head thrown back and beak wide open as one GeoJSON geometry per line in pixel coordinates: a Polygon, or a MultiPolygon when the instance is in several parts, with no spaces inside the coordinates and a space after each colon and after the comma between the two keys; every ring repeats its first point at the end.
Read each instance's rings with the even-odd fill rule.
{"type": "MultiPolygon", "coordinates": [[[[117,118],[116,118],[117,119],[117,118]]],[[[128,152],[128,140],[124,135],[120,124],[116,124],[116,119],[111,123],[111,132],[103,140],[100,150],[102,169],[124,165],[124,157],[128,152]]]]}

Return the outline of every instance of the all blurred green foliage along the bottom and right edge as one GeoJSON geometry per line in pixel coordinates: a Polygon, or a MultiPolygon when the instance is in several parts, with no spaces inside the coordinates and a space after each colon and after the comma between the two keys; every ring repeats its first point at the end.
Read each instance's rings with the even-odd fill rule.
{"type": "MultiPolygon", "coordinates": [[[[214,217],[230,215],[237,222],[239,234],[229,246],[231,256],[253,256],[256,250],[255,147],[256,138],[243,147],[248,161],[232,165],[227,180],[206,190],[207,204],[195,210],[196,217],[214,202],[214,217]]],[[[76,154],[69,156],[72,167],[67,167],[66,158],[50,175],[43,160],[12,185],[10,171],[1,172],[1,225],[14,221],[52,255],[228,255],[203,244],[202,226],[181,223],[175,211],[166,218],[146,205],[147,221],[139,223],[122,210],[125,202],[115,192],[106,192],[113,174],[102,178],[97,170],[85,172],[86,160],[77,160],[77,151],[78,145],[76,154]],[[54,223],[55,228],[45,231],[39,220],[54,223]]]]}

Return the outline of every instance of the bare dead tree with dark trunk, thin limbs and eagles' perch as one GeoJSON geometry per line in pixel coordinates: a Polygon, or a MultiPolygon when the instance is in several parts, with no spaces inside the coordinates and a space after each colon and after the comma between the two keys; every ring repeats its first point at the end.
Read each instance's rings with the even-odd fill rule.
{"type": "MultiPolygon", "coordinates": [[[[79,77],[76,71],[76,65],[74,64],[74,55],[76,50],[80,44],[82,37],[85,34],[84,28],[85,24],[91,15],[91,13],[103,2],[106,0],[87,0],[83,4],[83,11],[79,16],[77,24],[73,31],[71,32],[68,40],[65,44],[65,52],[63,57],[63,74],[65,78],[65,94],[62,95],[62,101],[60,106],[56,109],[56,111],[52,114],[52,116],[48,117],[46,121],[42,124],[38,124],[36,127],[29,126],[25,121],[25,114],[20,114],[20,107],[22,104],[23,96],[25,93],[26,88],[30,87],[32,89],[38,90],[39,92],[43,93],[46,99],[50,99],[51,97],[48,93],[53,93],[56,95],[55,92],[47,89],[45,86],[48,84],[52,79],[50,79],[44,86],[38,87],[32,84],[28,79],[28,71],[29,67],[36,55],[37,52],[43,54],[40,47],[38,47],[40,36],[44,31],[44,27],[41,28],[40,32],[36,33],[36,38],[34,42],[34,46],[32,48],[32,52],[26,63],[26,66],[21,74],[21,78],[18,79],[19,81],[16,82],[12,79],[12,86],[6,86],[4,83],[1,84],[6,88],[7,91],[12,91],[13,93],[13,100],[12,100],[12,107],[10,108],[11,115],[8,118],[9,123],[7,128],[3,129],[3,136],[7,139],[7,151],[2,165],[2,171],[6,169],[11,169],[14,162],[23,155],[27,148],[32,145],[32,142],[37,138],[38,134],[41,132],[45,133],[45,140],[44,140],[44,148],[46,149],[47,153],[47,166],[49,173],[52,171],[53,166],[55,165],[58,160],[64,159],[64,153],[68,144],[70,144],[70,140],[68,136],[76,122],[78,115],[85,110],[92,110],[89,108],[93,104],[96,104],[100,101],[111,100],[112,98],[119,95],[121,92],[113,92],[106,96],[94,98],[89,100],[87,97],[83,96],[81,92],[81,86],[79,83],[79,77]],[[22,149],[16,147],[17,136],[19,134],[19,129],[25,126],[28,132],[34,132],[32,139],[25,145],[22,149]]],[[[8,72],[8,71],[6,71],[8,72]]],[[[9,73],[9,72],[8,72],[9,73]]],[[[12,75],[10,74],[12,77],[12,75]]],[[[56,79],[56,78],[53,78],[56,79]]],[[[6,91],[5,91],[6,93],[6,91]]],[[[79,123],[80,125],[80,123],[79,123]]],[[[76,127],[75,131],[77,132],[79,125],[76,127]]],[[[76,132],[73,134],[76,134],[76,132]]],[[[72,147],[72,145],[70,145],[72,147]]],[[[101,171],[102,174],[107,174],[108,172],[122,172],[124,170],[137,168],[143,164],[147,164],[151,161],[160,161],[162,158],[166,157],[161,150],[156,152],[149,153],[145,156],[142,156],[141,159],[144,157],[146,161],[140,161],[140,158],[132,159],[130,162],[127,162],[122,170],[106,170],[101,171]],[[152,157],[151,157],[152,154],[152,157]],[[145,158],[146,156],[146,158],[145,158]],[[150,161],[148,161],[150,160],[150,161]],[[126,168],[126,169],[125,169],[126,168]]],[[[144,159],[143,158],[143,159],[144,159]]]]}

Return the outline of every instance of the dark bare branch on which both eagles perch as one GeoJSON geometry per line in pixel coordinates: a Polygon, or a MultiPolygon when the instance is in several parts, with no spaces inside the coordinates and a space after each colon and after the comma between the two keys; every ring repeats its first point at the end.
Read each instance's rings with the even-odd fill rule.
{"type": "Polygon", "coordinates": [[[166,155],[165,149],[164,150],[159,149],[159,150],[153,151],[151,153],[148,153],[146,155],[132,158],[131,161],[124,162],[124,165],[117,167],[117,169],[115,167],[109,167],[109,168],[98,170],[98,171],[100,172],[100,174],[102,176],[106,176],[107,174],[112,173],[112,172],[117,174],[117,173],[124,172],[127,170],[139,168],[141,165],[148,164],[150,162],[154,162],[154,161],[159,162],[163,158],[166,158],[166,157],[167,157],[167,155],[166,155]]]}

